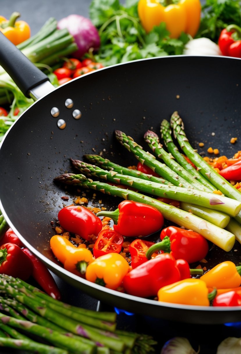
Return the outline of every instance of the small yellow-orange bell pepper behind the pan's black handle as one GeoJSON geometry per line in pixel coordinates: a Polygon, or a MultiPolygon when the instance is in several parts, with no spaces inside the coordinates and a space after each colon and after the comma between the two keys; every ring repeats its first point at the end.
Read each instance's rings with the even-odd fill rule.
{"type": "Polygon", "coordinates": [[[30,38],[30,27],[25,21],[16,21],[19,12],[13,12],[10,19],[0,16],[0,31],[15,45],[30,38]]]}

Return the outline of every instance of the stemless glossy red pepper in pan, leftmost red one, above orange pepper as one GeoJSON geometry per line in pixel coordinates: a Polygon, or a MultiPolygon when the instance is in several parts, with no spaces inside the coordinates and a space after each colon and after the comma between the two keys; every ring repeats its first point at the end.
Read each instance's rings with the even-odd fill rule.
{"type": "Polygon", "coordinates": [[[91,240],[93,235],[98,236],[102,229],[100,218],[84,206],[65,206],[59,211],[58,219],[66,231],[77,234],[87,241],[91,240]]]}

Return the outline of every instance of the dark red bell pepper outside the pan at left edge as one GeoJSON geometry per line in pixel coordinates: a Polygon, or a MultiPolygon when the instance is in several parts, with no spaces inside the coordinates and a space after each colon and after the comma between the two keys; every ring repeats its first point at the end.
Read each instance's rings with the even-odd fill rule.
{"type": "Polygon", "coordinates": [[[27,255],[18,246],[6,243],[0,249],[0,274],[27,280],[33,272],[33,265],[27,255]]]}

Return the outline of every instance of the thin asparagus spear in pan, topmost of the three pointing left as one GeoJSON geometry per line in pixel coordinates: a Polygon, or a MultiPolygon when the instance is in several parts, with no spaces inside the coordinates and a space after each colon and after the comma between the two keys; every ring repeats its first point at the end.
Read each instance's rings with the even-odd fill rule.
{"type": "MultiPolygon", "coordinates": [[[[87,155],[84,155],[84,158],[89,160],[92,164],[102,167],[102,169],[104,169],[104,170],[115,171],[115,172],[118,172],[122,175],[133,176],[133,177],[145,179],[146,181],[170,184],[170,182],[166,181],[164,178],[155,177],[152,175],[147,175],[146,173],[143,173],[141,171],[128,169],[128,167],[123,167],[123,166],[117,165],[114,162],[111,162],[108,159],[104,159],[99,155],[91,155],[91,154],[88,155],[87,154],[87,155]]],[[[76,167],[76,169],[78,170],[78,164],[76,164],[76,165],[74,164],[74,167],[76,167]]]]}

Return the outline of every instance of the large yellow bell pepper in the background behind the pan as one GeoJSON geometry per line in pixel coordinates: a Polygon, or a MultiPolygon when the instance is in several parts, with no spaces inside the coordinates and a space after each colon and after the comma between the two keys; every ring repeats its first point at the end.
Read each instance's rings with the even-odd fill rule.
{"type": "Polygon", "coordinates": [[[165,22],[171,38],[178,38],[182,32],[194,37],[200,26],[201,2],[181,0],[177,4],[163,6],[158,0],[140,0],[138,16],[147,33],[165,22]]]}

